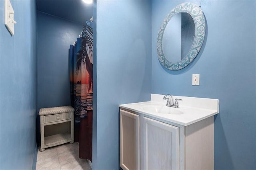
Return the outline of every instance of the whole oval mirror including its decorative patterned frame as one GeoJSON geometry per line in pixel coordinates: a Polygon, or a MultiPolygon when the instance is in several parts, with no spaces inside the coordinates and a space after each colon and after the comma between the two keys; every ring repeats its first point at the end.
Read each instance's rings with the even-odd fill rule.
{"type": "Polygon", "coordinates": [[[164,19],[157,37],[160,63],[169,70],[180,70],[198,55],[204,41],[205,18],[196,4],[182,3],[164,19]]]}

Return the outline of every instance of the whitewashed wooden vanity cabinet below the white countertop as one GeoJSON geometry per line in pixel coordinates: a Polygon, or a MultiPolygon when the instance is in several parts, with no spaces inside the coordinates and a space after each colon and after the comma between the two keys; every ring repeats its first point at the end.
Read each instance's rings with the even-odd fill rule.
{"type": "Polygon", "coordinates": [[[120,108],[124,170],[213,170],[213,116],[188,126],[120,108]]]}

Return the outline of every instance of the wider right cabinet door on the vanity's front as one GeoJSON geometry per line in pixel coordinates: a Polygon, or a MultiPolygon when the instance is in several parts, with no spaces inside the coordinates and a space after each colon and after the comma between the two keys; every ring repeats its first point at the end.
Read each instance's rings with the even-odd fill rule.
{"type": "Polygon", "coordinates": [[[143,117],[143,132],[143,169],[180,169],[179,128],[143,117]]]}

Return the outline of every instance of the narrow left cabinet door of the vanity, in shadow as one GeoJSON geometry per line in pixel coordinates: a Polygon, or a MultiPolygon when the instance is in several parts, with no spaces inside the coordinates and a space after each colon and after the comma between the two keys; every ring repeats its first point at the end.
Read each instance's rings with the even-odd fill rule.
{"type": "Polygon", "coordinates": [[[139,115],[120,110],[120,166],[124,170],[140,169],[139,115]]]}

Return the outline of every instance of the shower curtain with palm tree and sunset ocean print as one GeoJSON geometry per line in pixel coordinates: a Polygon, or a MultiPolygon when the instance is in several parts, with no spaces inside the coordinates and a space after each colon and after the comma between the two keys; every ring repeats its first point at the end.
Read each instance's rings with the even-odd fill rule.
{"type": "Polygon", "coordinates": [[[92,21],[86,21],[82,35],[70,45],[70,95],[74,107],[74,141],[79,157],[92,161],[92,21]]]}

